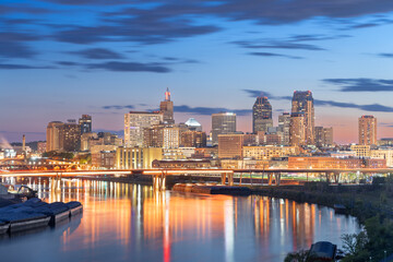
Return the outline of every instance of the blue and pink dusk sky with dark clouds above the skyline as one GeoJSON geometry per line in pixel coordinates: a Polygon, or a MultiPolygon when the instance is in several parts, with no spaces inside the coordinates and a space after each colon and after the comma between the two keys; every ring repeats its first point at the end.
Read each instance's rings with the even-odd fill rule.
{"type": "Polygon", "coordinates": [[[176,122],[234,111],[251,131],[267,96],[277,124],[311,91],[315,124],[357,142],[362,115],[393,136],[391,0],[1,0],[0,141],[45,140],[50,121],[119,132],[171,92],[176,122]]]}

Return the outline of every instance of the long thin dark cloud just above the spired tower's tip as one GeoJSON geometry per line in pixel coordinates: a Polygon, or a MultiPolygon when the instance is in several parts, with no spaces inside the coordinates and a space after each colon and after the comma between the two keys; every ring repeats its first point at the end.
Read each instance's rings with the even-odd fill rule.
{"type": "Polygon", "coordinates": [[[104,63],[87,63],[86,69],[103,69],[116,72],[154,72],[168,73],[171,70],[162,63],[140,63],[140,62],[104,62],[104,63]]]}

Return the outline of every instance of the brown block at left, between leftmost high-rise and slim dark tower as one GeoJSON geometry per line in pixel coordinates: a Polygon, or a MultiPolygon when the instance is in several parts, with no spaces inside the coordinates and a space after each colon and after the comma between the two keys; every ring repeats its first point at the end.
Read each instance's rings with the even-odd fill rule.
{"type": "Polygon", "coordinates": [[[81,124],[69,120],[59,128],[60,150],[76,152],[81,150],[81,124]]]}

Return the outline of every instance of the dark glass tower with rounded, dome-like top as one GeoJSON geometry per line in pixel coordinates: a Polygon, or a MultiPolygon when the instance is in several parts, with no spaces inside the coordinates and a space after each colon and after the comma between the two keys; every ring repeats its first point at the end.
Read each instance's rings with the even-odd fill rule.
{"type": "Polygon", "coordinates": [[[272,105],[267,97],[257,97],[252,107],[252,132],[267,132],[271,127],[273,127],[272,105]]]}

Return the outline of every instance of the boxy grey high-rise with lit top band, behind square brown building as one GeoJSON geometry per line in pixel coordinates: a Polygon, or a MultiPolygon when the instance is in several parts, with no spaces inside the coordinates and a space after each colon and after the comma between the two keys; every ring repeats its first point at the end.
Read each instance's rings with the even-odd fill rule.
{"type": "Polygon", "coordinates": [[[236,132],[236,114],[218,112],[212,115],[212,145],[218,144],[218,134],[236,132]]]}

